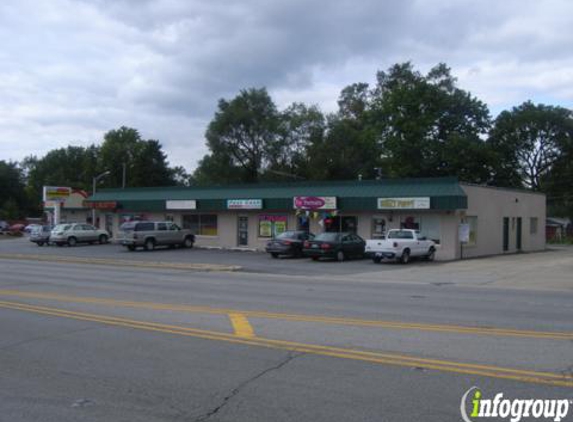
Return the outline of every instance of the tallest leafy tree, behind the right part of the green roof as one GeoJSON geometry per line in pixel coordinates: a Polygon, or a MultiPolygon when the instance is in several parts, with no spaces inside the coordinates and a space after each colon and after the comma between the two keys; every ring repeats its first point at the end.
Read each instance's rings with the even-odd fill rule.
{"type": "Polygon", "coordinates": [[[491,156],[482,140],[490,127],[489,111],[456,87],[445,64],[425,76],[411,63],[396,64],[378,72],[371,96],[369,119],[378,126],[386,175],[489,180],[491,156]]]}

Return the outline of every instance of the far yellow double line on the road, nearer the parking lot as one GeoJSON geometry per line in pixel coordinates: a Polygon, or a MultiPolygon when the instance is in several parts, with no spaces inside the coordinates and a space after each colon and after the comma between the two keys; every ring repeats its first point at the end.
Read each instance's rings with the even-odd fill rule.
{"type": "Polygon", "coordinates": [[[547,340],[573,340],[573,333],[567,333],[567,332],[533,331],[533,330],[518,330],[509,328],[496,328],[496,327],[470,327],[470,326],[445,325],[445,324],[424,324],[424,323],[410,323],[410,322],[400,322],[400,321],[377,321],[377,320],[364,320],[356,318],[283,314],[283,313],[264,312],[264,311],[212,308],[207,306],[177,305],[177,304],[153,303],[153,302],[134,302],[134,301],[124,301],[115,299],[102,299],[96,297],[67,296],[67,295],[60,295],[56,293],[47,293],[47,292],[24,292],[19,290],[6,289],[6,290],[0,290],[0,296],[15,296],[15,297],[31,298],[31,299],[55,300],[66,303],[90,303],[90,304],[106,305],[106,306],[123,306],[129,308],[203,313],[212,315],[241,314],[244,315],[245,317],[279,319],[285,321],[298,321],[298,322],[313,322],[313,323],[344,325],[344,326],[349,325],[349,326],[362,326],[362,327],[376,327],[376,328],[395,329],[395,330],[418,330],[418,331],[431,331],[431,332],[443,332],[443,333],[454,333],[454,334],[522,337],[522,338],[535,338],[535,339],[547,339],[547,340]]]}

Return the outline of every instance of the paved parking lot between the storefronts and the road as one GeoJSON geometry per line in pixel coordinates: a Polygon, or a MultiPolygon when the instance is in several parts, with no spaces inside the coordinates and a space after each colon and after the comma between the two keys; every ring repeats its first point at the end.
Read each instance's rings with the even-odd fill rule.
{"type": "Polygon", "coordinates": [[[551,247],[545,252],[512,254],[453,262],[413,261],[375,264],[368,259],[312,261],[252,251],[204,249],[157,249],[129,252],[117,244],[38,247],[26,237],[0,242],[0,256],[20,254],[49,257],[129,260],[173,264],[239,266],[248,273],[313,277],[370,282],[422,283],[436,286],[471,285],[573,291],[573,247],[551,247]]]}

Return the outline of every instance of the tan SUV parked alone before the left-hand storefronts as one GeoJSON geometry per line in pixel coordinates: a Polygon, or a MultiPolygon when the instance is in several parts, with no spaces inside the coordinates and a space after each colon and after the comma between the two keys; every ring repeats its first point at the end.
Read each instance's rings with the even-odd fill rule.
{"type": "Polygon", "coordinates": [[[122,224],[120,243],[130,251],[138,246],[152,251],[156,246],[192,248],[195,235],[171,221],[131,221],[122,224]]]}

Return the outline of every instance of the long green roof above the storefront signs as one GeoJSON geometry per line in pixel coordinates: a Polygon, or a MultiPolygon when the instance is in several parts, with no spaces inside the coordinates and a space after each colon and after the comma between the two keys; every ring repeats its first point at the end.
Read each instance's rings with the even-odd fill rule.
{"type": "Polygon", "coordinates": [[[375,210],[377,198],[430,197],[432,209],[467,208],[456,178],[382,179],[242,184],[209,187],[101,189],[88,202],[115,201],[119,209],[165,210],[166,200],[197,200],[197,209],[224,210],[227,199],[263,199],[264,209],[292,209],[295,196],[335,196],[341,210],[375,210]]]}

